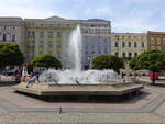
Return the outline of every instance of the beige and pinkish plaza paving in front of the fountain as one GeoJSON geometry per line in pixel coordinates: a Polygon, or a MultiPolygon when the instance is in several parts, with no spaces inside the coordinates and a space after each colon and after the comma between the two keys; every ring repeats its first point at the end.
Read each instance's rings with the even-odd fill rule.
{"type": "Polygon", "coordinates": [[[0,123],[165,123],[165,88],[146,86],[123,102],[45,102],[0,87],[0,123]],[[59,108],[62,113],[59,114],[59,108]]]}

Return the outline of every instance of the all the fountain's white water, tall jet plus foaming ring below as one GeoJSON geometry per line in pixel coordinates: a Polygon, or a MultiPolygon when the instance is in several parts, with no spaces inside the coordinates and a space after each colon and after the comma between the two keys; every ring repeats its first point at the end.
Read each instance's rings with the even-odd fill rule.
{"type": "Polygon", "coordinates": [[[46,70],[40,76],[40,80],[45,83],[102,83],[102,81],[113,82],[120,76],[113,70],[87,70],[81,71],[81,31],[78,25],[73,31],[68,47],[69,59],[74,61],[72,70],[46,70]],[[111,80],[111,81],[109,81],[111,80]]]}

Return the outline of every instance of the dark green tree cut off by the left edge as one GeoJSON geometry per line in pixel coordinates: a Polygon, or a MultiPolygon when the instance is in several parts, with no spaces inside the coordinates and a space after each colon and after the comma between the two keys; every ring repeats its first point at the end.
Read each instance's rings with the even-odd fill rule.
{"type": "Polygon", "coordinates": [[[0,44],[0,67],[20,66],[24,57],[16,44],[0,44]]]}

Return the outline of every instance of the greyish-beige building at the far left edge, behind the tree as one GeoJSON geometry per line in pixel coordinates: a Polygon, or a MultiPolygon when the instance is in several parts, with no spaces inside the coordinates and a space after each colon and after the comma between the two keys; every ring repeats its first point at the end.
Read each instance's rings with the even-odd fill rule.
{"type": "Polygon", "coordinates": [[[18,44],[25,55],[24,22],[21,18],[0,18],[0,43],[18,44]]]}

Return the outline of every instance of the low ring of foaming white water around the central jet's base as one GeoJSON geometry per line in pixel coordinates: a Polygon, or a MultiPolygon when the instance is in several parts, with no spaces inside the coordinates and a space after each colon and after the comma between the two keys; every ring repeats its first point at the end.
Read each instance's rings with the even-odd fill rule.
{"type": "Polygon", "coordinates": [[[113,70],[87,70],[76,74],[75,70],[46,70],[40,76],[40,80],[45,83],[73,83],[73,84],[95,84],[114,83],[120,76],[113,70]]]}

